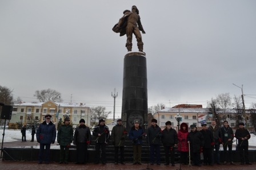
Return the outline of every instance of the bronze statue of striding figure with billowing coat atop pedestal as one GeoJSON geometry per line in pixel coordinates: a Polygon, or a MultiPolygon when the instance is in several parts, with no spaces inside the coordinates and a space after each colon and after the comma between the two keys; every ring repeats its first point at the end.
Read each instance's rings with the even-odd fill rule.
{"type": "Polygon", "coordinates": [[[139,10],[134,5],[131,7],[130,10],[123,11],[123,17],[119,19],[119,22],[115,24],[115,26],[112,28],[114,32],[120,33],[120,36],[123,36],[126,34],[127,40],[126,40],[126,48],[128,51],[131,51],[131,47],[133,46],[132,40],[133,40],[133,34],[135,35],[137,39],[137,45],[139,51],[143,52],[143,42],[141,37],[142,34],[146,34],[146,32],[143,30],[142,24],[141,24],[141,18],[139,17],[139,10]],[[137,26],[138,23],[138,26],[137,26]]]}

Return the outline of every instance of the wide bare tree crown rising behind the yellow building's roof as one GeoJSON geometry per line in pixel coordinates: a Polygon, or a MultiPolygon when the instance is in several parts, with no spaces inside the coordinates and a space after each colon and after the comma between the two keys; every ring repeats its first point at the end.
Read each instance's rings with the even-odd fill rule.
{"type": "Polygon", "coordinates": [[[37,90],[35,91],[34,94],[35,97],[37,97],[37,99],[40,102],[47,102],[49,100],[51,101],[58,101],[58,102],[62,102],[61,97],[61,93],[57,92],[56,90],[53,89],[45,89],[45,90],[37,90]]]}

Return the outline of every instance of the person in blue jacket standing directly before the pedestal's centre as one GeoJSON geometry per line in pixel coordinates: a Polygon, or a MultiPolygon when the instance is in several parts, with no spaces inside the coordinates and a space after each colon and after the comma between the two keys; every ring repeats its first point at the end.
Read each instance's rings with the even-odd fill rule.
{"type": "Polygon", "coordinates": [[[131,127],[129,132],[129,138],[133,142],[133,164],[141,165],[141,149],[142,139],[145,137],[145,132],[141,126],[139,126],[139,120],[134,120],[134,126],[131,127]]]}

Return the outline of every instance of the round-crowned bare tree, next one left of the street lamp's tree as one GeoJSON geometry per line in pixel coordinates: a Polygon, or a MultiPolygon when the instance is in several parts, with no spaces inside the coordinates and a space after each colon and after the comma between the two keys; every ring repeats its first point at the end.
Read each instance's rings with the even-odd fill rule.
{"type": "Polygon", "coordinates": [[[222,109],[222,120],[226,120],[226,109],[231,106],[231,97],[229,93],[221,93],[218,94],[216,97],[216,102],[218,103],[218,106],[222,109]]]}

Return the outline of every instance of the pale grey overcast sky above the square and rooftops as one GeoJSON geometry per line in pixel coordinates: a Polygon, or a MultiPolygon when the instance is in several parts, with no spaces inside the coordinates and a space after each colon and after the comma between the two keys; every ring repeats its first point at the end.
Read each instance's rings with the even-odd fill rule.
{"type": "Polygon", "coordinates": [[[26,102],[51,88],[112,113],[116,88],[121,116],[126,36],[112,28],[133,5],[146,31],[149,106],[206,107],[241,95],[233,83],[255,95],[247,109],[256,102],[256,1],[0,1],[0,85],[26,102]]]}

